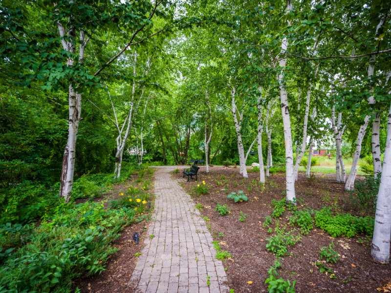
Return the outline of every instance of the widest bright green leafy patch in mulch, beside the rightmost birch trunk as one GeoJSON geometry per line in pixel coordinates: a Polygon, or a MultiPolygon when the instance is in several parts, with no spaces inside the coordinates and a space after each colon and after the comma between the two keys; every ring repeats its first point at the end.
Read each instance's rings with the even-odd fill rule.
{"type": "Polygon", "coordinates": [[[372,217],[355,217],[348,213],[333,215],[330,208],[315,212],[315,225],[325,230],[332,237],[345,235],[350,238],[357,233],[373,235],[374,219],[372,217]]]}

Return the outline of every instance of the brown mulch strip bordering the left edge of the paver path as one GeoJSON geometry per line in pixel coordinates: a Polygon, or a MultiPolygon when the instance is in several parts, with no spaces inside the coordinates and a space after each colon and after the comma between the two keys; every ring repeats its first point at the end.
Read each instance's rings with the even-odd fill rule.
{"type": "MultiPolygon", "coordinates": [[[[112,190],[107,194],[100,198],[94,198],[94,200],[118,199],[119,193],[124,192],[130,186],[139,187],[139,184],[135,182],[137,178],[137,175],[131,175],[129,181],[113,186],[112,190]]],[[[143,178],[143,180],[147,179],[151,181],[150,189],[148,191],[153,195],[153,177],[148,177],[148,175],[146,175],[143,178]]],[[[86,200],[79,200],[79,202],[84,201],[86,200]]],[[[154,196],[151,197],[150,201],[152,202],[153,207],[154,196]]],[[[152,210],[153,209],[151,209],[151,211],[152,210]]],[[[76,287],[78,287],[82,293],[134,293],[136,291],[135,288],[128,286],[128,283],[130,282],[131,274],[137,263],[137,256],[135,256],[135,254],[141,253],[144,248],[144,240],[148,236],[146,232],[148,226],[149,222],[143,220],[125,227],[121,232],[121,236],[112,243],[112,246],[116,247],[118,251],[110,255],[105,266],[106,270],[101,274],[95,274],[90,277],[83,276],[80,279],[74,280],[73,288],[76,289],[76,287]],[[136,245],[132,239],[134,232],[138,232],[140,235],[140,242],[138,245],[136,245]]]]}

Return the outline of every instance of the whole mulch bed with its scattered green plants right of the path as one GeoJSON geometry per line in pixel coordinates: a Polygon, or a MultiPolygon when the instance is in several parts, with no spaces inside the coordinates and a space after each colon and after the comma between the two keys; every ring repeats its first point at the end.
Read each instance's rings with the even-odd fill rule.
{"type": "MultiPolygon", "coordinates": [[[[232,167],[211,167],[209,174],[201,167],[199,174],[199,181],[205,181],[210,190],[197,197],[198,205],[230,207],[230,213],[223,217],[213,209],[200,212],[208,217],[210,229],[219,232],[215,240],[220,250],[231,254],[232,260],[224,265],[235,292],[273,292],[273,286],[273,290],[280,286],[285,288],[282,290],[291,288],[291,292],[369,293],[387,284],[390,265],[376,264],[370,257],[373,214],[363,213],[350,200],[351,193],[331,175],[316,173],[306,180],[300,172],[296,182],[298,203],[292,207],[283,199],[283,174],[272,174],[263,188],[257,172],[249,173],[247,180],[232,167]],[[229,180],[225,182],[221,176],[229,180]],[[222,184],[217,185],[216,180],[222,184]],[[234,203],[227,198],[225,190],[248,185],[251,191],[246,191],[247,202],[234,203]],[[240,212],[246,215],[244,222],[238,220],[240,212]],[[276,259],[281,268],[269,271],[276,259]],[[373,278],[366,277],[368,274],[373,278]]],[[[194,192],[197,183],[175,178],[189,193],[194,192]]]]}

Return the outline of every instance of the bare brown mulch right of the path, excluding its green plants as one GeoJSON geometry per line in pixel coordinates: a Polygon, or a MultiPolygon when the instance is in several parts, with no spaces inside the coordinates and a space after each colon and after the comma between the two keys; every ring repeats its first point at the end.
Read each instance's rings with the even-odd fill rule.
{"type": "MultiPolygon", "coordinates": [[[[258,185],[258,172],[249,173],[249,178],[243,179],[239,168],[210,167],[210,173],[206,174],[205,168],[201,167],[198,174],[198,182],[186,182],[180,174],[173,176],[190,194],[194,194],[193,188],[199,183],[202,184],[203,180],[210,188],[209,194],[194,197],[194,200],[204,206],[201,214],[210,219],[207,224],[210,225],[215,240],[219,241],[221,249],[233,255],[224,264],[230,288],[234,289],[235,293],[267,292],[264,281],[269,277],[267,271],[274,265],[276,257],[265,248],[265,239],[273,233],[269,234],[267,228],[264,229],[261,224],[265,217],[272,213],[271,200],[284,197],[284,174],[271,174],[263,191],[258,185]],[[226,178],[221,179],[222,175],[226,178]],[[227,199],[224,189],[227,189],[228,193],[243,190],[248,201],[234,203],[227,199]],[[220,216],[215,211],[217,203],[228,205],[230,213],[220,216]],[[243,223],[238,221],[239,211],[246,215],[243,223]],[[223,236],[219,236],[220,232],[223,236]],[[252,283],[248,284],[248,281],[252,283]]],[[[344,185],[337,183],[333,174],[316,174],[315,177],[308,180],[299,174],[296,183],[299,208],[321,209],[322,206],[330,206],[336,212],[362,215],[351,204],[351,194],[344,191],[344,185]]],[[[278,219],[281,226],[286,224],[286,231],[294,229],[287,225],[290,215],[290,211],[285,211],[278,219]]],[[[272,228],[275,223],[276,219],[273,219],[272,228]]],[[[379,292],[391,281],[391,265],[372,261],[370,242],[371,239],[364,235],[350,239],[343,236],[332,238],[319,228],[314,228],[309,234],[303,235],[302,240],[294,247],[288,247],[289,255],[285,255],[281,260],[279,277],[291,282],[297,280],[296,292],[379,292]],[[318,251],[322,247],[328,247],[331,242],[341,256],[336,264],[328,265],[336,279],[331,279],[329,273],[321,273],[313,265],[319,259],[318,251]]]]}

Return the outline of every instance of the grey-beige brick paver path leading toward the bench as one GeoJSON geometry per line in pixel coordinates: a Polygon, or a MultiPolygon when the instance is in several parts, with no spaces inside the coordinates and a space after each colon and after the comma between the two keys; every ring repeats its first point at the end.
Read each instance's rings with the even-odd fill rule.
{"type": "Polygon", "coordinates": [[[171,178],[174,168],[156,168],[156,221],[150,223],[130,283],[143,293],[227,293],[212,236],[189,194],[171,178]]]}

